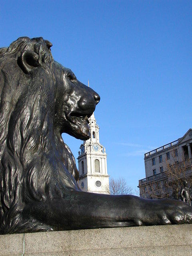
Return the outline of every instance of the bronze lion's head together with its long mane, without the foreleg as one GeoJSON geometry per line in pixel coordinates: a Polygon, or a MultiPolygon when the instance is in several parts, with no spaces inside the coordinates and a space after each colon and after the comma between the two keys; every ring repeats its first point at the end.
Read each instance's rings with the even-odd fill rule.
{"type": "Polygon", "coordinates": [[[100,97],[54,61],[51,46],[20,37],[0,48],[0,230],[26,202],[79,190],[61,134],[87,140],[100,97]]]}

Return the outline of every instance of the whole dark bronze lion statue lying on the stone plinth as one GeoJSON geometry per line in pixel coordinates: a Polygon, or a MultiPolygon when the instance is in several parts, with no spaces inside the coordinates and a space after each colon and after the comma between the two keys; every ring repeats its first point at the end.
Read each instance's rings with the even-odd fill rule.
{"type": "Polygon", "coordinates": [[[176,200],[82,192],[66,132],[87,140],[100,96],[54,61],[52,44],[0,48],[0,234],[192,222],[176,200]]]}

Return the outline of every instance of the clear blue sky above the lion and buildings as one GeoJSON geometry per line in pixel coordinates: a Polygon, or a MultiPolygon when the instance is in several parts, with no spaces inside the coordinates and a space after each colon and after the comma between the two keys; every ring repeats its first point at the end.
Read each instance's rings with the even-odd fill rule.
{"type": "MultiPolygon", "coordinates": [[[[192,128],[192,1],[9,1],[0,46],[20,36],[53,43],[54,59],[96,90],[108,173],[136,188],[144,153],[192,128]]],[[[78,156],[80,140],[64,134],[78,156]]]]}

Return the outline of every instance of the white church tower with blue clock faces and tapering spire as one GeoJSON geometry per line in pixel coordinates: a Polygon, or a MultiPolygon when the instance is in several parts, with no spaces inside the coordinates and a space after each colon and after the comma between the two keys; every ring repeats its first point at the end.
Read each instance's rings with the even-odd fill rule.
{"type": "Polygon", "coordinates": [[[94,113],[89,122],[90,139],[81,144],[81,151],[78,152],[78,185],[86,192],[108,194],[107,155],[99,142],[99,126],[96,124],[94,113]]]}

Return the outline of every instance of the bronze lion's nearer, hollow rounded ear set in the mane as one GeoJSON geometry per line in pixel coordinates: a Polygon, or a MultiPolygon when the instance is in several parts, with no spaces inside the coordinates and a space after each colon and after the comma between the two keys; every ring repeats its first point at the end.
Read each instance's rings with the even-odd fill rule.
{"type": "Polygon", "coordinates": [[[24,51],[18,58],[18,64],[25,74],[29,74],[34,67],[39,66],[38,54],[32,51],[24,51]]]}

